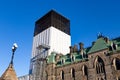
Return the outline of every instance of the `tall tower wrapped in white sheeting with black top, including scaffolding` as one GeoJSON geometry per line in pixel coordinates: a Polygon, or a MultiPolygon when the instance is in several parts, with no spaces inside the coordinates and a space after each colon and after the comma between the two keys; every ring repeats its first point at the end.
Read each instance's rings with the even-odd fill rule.
{"type": "Polygon", "coordinates": [[[35,22],[32,57],[29,74],[31,80],[42,80],[45,58],[51,52],[69,53],[71,45],[70,21],[54,10],[35,22]]]}

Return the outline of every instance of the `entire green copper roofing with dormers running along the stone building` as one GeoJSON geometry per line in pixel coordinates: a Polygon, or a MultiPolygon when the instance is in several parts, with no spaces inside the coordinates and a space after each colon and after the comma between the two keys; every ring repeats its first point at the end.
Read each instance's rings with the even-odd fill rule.
{"type": "MultiPolygon", "coordinates": [[[[94,43],[94,45],[84,48],[83,52],[84,54],[87,55],[87,54],[94,53],[100,50],[104,50],[106,48],[109,49],[109,52],[119,51],[120,50],[120,37],[109,40],[108,43],[105,42],[105,37],[98,38],[96,42],[94,43]],[[117,45],[116,50],[109,49],[112,43],[115,43],[117,45]]],[[[74,62],[82,62],[82,61],[88,60],[87,57],[84,57],[84,58],[82,57],[80,51],[72,53],[72,56],[74,56],[74,60],[71,60],[70,54],[66,54],[66,55],[60,56],[60,59],[57,60],[56,62],[55,56],[56,56],[56,53],[52,52],[51,55],[47,57],[48,59],[47,63],[55,63],[57,67],[72,64],[74,62]],[[62,63],[62,60],[64,60],[64,63],[62,63]]]]}

